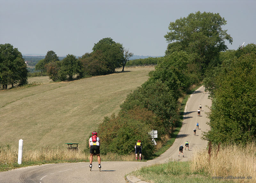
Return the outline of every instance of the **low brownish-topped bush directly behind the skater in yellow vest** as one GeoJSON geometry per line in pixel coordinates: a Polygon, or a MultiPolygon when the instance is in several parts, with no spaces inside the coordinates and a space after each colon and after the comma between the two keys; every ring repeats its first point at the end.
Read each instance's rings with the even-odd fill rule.
{"type": "Polygon", "coordinates": [[[147,158],[153,154],[155,147],[148,132],[152,130],[150,123],[156,119],[156,116],[145,115],[144,112],[147,113],[145,109],[137,108],[137,112],[137,116],[134,116],[134,111],[129,111],[127,114],[119,114],[117,117],[115,115],[110,118],[105,117],[98,129],[101,153],[130,154],[134,152],[134,146],[140,139],[143,156],[147,158]],[[146,118],[147,120],[145,120],[146,118]]]}

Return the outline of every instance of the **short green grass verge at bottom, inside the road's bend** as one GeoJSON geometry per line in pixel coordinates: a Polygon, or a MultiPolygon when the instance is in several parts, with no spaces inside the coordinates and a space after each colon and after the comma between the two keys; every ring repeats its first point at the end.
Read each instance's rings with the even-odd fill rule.
{"type": "Polygon", "coordinates": [[[155,183],[165,182],[230,182],[225,179],[213,179],[204,170],[192,172],[189,169],[189,162],[172,161],[167,164],[157,164],[143,167],[132,172],[133,175],[144,181],[154,181],[155,183]]]}

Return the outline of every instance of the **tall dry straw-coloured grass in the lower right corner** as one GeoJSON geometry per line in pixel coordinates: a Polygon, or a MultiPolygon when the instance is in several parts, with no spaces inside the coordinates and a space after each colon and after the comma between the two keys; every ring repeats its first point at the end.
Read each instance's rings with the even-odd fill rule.
{"type": "Polygon", "coordinates": [[[256,182],[255,143],[246,146],[220,144],[219,147],[211,148],[211,150],[194,152],[190,163],[192,171],[205,170],[211,176],[251,176],[250,181],[256,182]]]}

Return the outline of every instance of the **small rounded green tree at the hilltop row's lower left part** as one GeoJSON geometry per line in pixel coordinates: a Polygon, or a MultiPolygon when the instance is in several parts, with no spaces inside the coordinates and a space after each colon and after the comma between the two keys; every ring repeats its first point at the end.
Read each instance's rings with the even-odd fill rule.
{"type": "Polygon", "coordinates": [[[67,55],[62,61],[60,66],[60,75],[62,76],[61,80],[65,80],[67,75],[69,80],[73,79],[73,76],[79,74],[81,67],[79,65],[79,61],[77,60],[75,55],[67,55]]]}

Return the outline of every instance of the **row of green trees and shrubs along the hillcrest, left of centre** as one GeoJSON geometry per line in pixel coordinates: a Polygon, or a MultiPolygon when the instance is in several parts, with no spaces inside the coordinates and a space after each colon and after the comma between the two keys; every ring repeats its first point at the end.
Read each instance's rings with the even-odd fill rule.
{"type": "Polygon", "coordinates": [[[54,51],[48,51],[45,58],[36,64],[36,70],[40,70],[42,75],[46,72],[53,81],[79,79],[113,73],[118,67],[123,67],[124,71],[126,62],[133,55],[111,38],[101,39],[92,50],[79,58],[68,54],[62,61],[54,51]]]}

